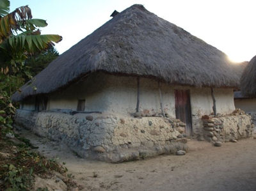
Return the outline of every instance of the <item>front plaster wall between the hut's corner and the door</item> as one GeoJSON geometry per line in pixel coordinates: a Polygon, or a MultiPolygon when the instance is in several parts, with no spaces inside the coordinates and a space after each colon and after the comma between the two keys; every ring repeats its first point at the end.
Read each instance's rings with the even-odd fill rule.
{"type": "MultiPolygon", "coordinates": [[[[104,97],[108,111],[120,114],[136,112],[137,79],[136,77],[109,76],[104,97]]],[[[163,107],[168,114],[175,117],[175,101],[171,86],[161,84],[163,107]]],[[[140,111],[161,112],[158,82],[140,78],[140,111]]]]}

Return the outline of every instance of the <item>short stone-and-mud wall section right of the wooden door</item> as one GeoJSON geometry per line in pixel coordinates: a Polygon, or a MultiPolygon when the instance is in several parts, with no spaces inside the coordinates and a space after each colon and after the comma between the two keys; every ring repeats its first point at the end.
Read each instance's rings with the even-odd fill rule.
{"type": "Polygon", "coordinates": [[[241,113],[234,116],[202,119],[204,138],[211,142],[228,142],[252,137],[253,123],[251,116],[241,113]]]}

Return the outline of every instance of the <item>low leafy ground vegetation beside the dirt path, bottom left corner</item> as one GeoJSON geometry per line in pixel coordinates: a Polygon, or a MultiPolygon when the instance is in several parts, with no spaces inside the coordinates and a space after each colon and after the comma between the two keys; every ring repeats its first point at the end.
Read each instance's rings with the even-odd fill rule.
{"type": "Polygon", "coordinates": [[[1,137],[0,145],[1,153],[8,153],[8,157],[0,155],[0,180],[3,180],[0,190],[29,190],[35,175],[51,174],[51,171],[67,172],[56,160],[32,151],[29,142],[14,144],[1,137]]]}

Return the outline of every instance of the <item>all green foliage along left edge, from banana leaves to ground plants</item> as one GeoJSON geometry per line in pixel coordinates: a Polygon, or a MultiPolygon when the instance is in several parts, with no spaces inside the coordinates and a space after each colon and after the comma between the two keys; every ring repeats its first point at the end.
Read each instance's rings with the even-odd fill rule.
{"type": "MultiPolygon", "coordinates": [[[[32,61],[37,59],[33,55],[47,56],[47,49],[51,50],[54,43],[62,39],[57,34],[42,35],[40,27],[45,26],[45,20],[32,19],[28,6],[10,12],[10,1],[0,0],[0,190],[30,190],[35,175],[67,171],[55,160],[32,151],[28,140],[15,135],[13,139],[23,142],[17,144],[6,137],[6,133],[13,134],[12,117],[15,114],[10,95],[31,78],[29,68],[33,72],[39,70],[32,70],[32,61]],[[41,55],[38,52],[42,50],[45,51],[41,55]]],[[[54,55],[49,57],[53,59],[54,55]]]]}

